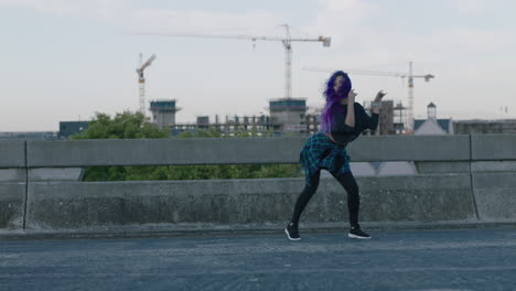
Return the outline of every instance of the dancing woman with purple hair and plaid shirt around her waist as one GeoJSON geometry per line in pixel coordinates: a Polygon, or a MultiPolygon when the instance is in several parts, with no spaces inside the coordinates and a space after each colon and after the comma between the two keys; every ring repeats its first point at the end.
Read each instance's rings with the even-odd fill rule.
{"type": "Polygon", "coordinates": [[[301,239],[298,230],[299,219],[318,190],[321,170],[329,171],[347,192],[348,237],[370,238],[358,225],[361,198],[358,185],[350,168],[346,146],[354,141],[362,131],[377,128],[381,98],[385,95],[384,91],[378,91],[372,105],[373,115],[369,117],[364,107],[355,103],[356,94],[352,89],[352,83],[346,73],[337,71],[327,80],[324,90],[326,104],[321,114],[320,131],[307,140],[300,153],[300,163],[305,173],[305,185],[295,202],[292,219],[284,229],[290,240],[301,239]]]}

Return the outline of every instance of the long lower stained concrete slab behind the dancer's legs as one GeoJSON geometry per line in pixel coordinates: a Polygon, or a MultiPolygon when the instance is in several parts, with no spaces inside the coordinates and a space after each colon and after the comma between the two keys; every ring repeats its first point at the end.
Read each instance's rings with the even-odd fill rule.
{"type": "MultiPolygon", "coordinates": [[[[471,220],[469,175],[359,177],[363,222],[471,220]]],[[[29,185],[26,228],[75,229],[153,224],[287,222],[303,179],[35,182],[29,185]]],[[[347,222],[346,194],[322,179],[303,220],[347,222]]]]}

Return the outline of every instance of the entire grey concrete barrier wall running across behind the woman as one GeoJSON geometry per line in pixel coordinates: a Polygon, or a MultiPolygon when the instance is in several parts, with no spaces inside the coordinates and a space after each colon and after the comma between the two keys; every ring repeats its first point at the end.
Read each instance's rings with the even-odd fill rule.
{"type": "MultiPolygon", "coordinates": [[[[419,173],[358,177],[361,220],[516,223],[515,137],[361,137],[348,148],[352,161],[415,161],[419,173]]],[[[66,233],[125,227],[136,231],[198,224],[279,225],[289,219],[303,179],[74,180],[80,168],[88,165],[297,163],[304,140],[0,142],[7,152],[0,161],[0,230],[66,233]]],[[[333,179],[322,179],[303,222],[347,224],[346,196],[333,179]]]]}

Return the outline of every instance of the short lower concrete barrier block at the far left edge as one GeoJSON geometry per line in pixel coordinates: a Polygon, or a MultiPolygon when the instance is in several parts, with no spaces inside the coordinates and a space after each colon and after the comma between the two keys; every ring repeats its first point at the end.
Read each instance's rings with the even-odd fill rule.
{"type": "Polygon", "coordinates": [[[0,183],[0,230],[21,229],[25,208],[25,183],[0,183]]]}

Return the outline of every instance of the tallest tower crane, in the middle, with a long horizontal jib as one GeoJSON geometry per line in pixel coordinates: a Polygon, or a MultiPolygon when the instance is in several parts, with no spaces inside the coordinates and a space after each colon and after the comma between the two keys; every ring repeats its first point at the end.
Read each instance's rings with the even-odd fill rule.
{"type": "Polygon", "coordinates": [[[329,47],[332,37],[318,36],[307,39],[292,39],[290,36],[290,26],[282,24],[286,30],[283,37],[278,36],[251,36],[251,35],[209,35],[209,34],[170,34],[170,33],[136,33],[136,35],[160,35],[160,36],[181,36],[181,37],[209,37],[209,39],[233,39],[256,41],[280,41],[284,47],[284,98],[292,97],[292,42],[322,42],[324,47],[329,47]]]}

